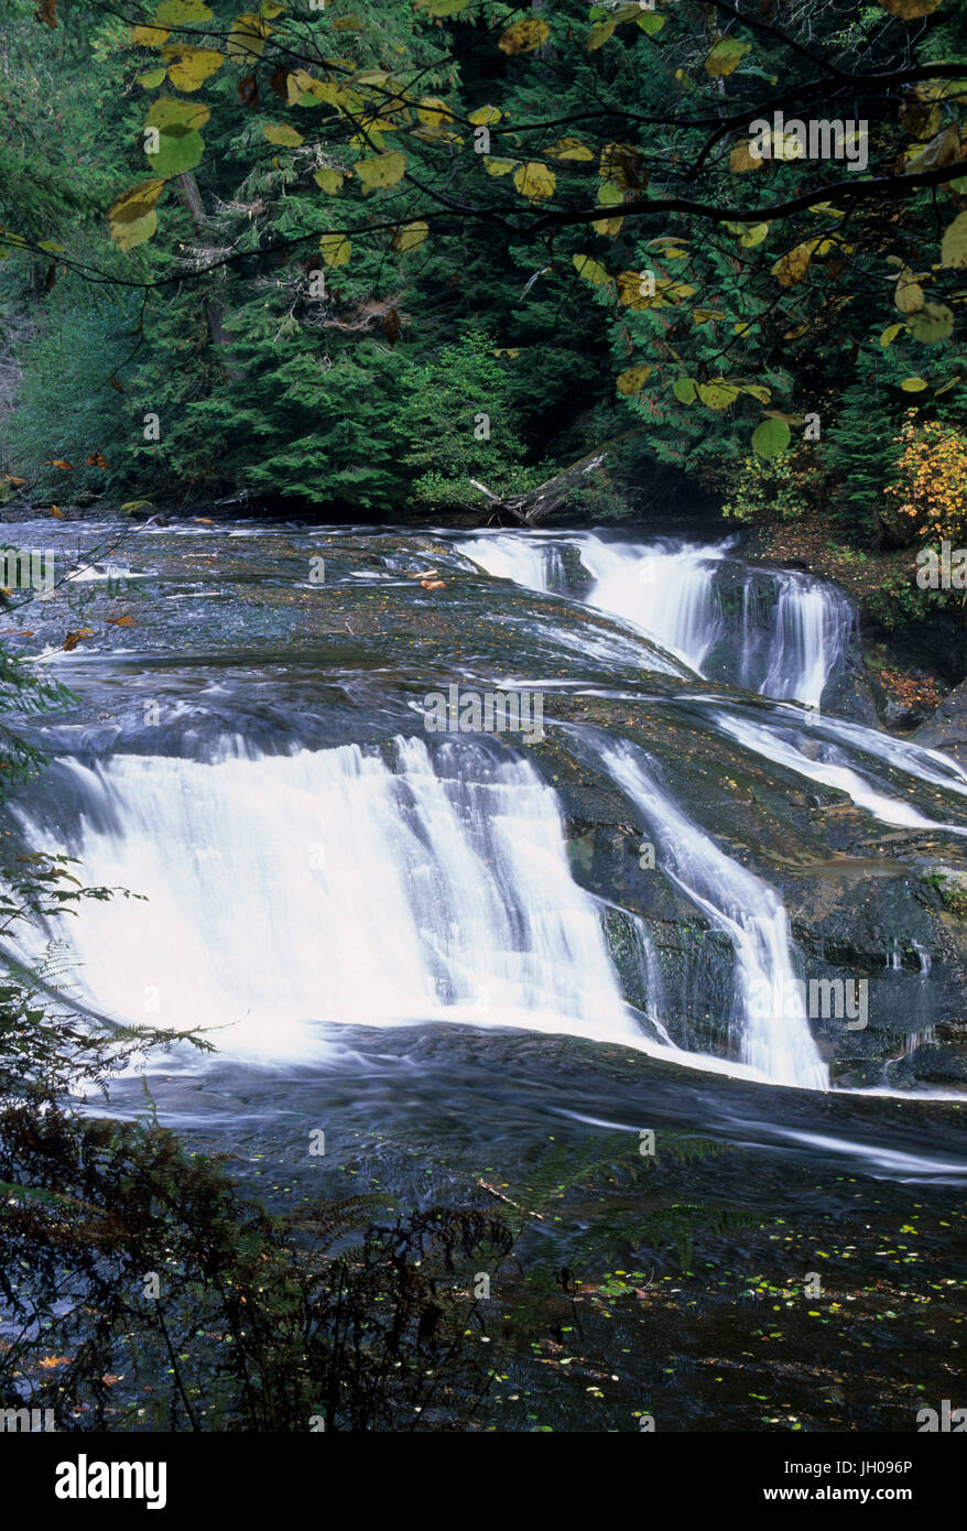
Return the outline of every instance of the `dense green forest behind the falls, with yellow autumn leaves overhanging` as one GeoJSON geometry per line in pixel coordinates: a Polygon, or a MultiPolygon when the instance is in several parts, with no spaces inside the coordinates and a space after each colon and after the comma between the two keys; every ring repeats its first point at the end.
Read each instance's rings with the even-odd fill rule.
{"type": "Polygon", "coordinates": [[[598,517],[956,539],[964,26],[5,0],[6,495],[425,516],[610,444],[598,517]]]}

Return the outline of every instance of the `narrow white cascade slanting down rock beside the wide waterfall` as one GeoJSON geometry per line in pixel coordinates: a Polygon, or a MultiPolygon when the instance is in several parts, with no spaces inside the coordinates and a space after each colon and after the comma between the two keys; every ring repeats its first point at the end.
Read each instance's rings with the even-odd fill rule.
{"type": "Polygon", "coordinates": [[[644,816],[661,871],[731,942],[737,991],[731,1020],[742,1063],[779,1084],[828,1089],[829,1072],[809,1032],[782,900],[682,813],[641,750],[601,743],[598,753],[644,816]]]}

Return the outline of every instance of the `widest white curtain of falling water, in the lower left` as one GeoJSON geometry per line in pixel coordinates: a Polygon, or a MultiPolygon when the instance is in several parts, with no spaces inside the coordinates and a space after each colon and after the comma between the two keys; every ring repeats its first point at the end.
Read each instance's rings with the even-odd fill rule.
{"type": "Polygon", "coordinates": [[[118,1020],[225,1027],[219,1050],[256,1063],[324,1058],[327,1023],[640,1044],[552,788],[477,744],[395,752],[395,769],[357,744],[61,766],[84,804],[81,879],[147,896],[57,931],[75,989],[118,1020]]]}

